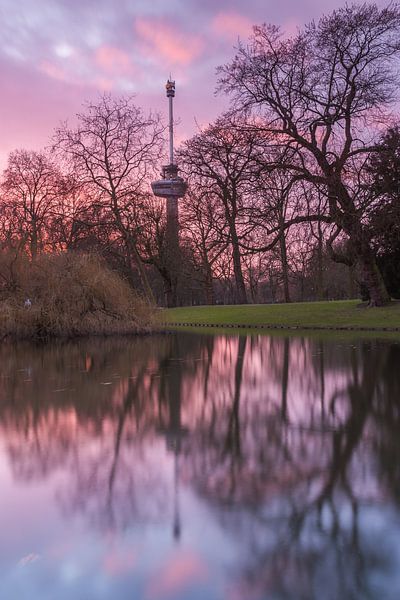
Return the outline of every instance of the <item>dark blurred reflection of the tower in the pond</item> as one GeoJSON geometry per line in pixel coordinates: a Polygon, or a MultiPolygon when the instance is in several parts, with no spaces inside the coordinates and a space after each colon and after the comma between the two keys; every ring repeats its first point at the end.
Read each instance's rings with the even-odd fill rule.
{"type": "Polygon", "coordinates": [[[165,401],[168,411],[168,420],[166,423],[161,423],[160,433],[165,437],[167,450],[174,454],[173,536],[175,540],[179,540],[181,536],[179,459],[182,450],[182,441],[188,434],[187,427],[182,425],[181,366],[179,362],[167,359],[161,365],[160,399],[165,401]]]}

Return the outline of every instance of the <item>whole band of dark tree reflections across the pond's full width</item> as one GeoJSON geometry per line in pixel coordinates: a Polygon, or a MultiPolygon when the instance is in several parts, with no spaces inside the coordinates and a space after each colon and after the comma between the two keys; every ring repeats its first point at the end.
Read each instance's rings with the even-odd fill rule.
{"type": "Polygon", "coordinates": [[[168,448],[242,547],[243,597],[321,597],[329,572],[324,597],[367,598],[368,572],[390,567],[363,515],[400,500],[400,346],[170,335],[0,352],[15,476],[63,467],[67,512],[166,519],[168,448]]]}

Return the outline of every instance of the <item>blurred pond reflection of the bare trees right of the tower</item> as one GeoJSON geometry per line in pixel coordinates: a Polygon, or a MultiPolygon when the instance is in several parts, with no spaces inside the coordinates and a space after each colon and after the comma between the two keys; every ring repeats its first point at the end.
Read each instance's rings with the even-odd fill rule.
{"type": "MultiPolygon", "coordinates": [[[[400,378],[393,367],[399,347],[343,344],[335,354],[334,346],[309,343],[308,357],[299,357],[304,342],[280,343],[281,358],[273,353],[269,375],[281,380],[281,395],[266,394],[264,406],[240,413],[240,454],[231,453],[236,468],[231,463],[221,469],[225,418],[218,420],[217,429],[204,423],[196,430],[189,470],[200,493],[220,506],[232,505],[229,518],[221,511],[221,519],[247,549],[247,587],[257,590],[263,580],[277,597],[371,597],[369,571],[388,568],[390,557],[384,546],[368,547],[359,520],[365,506],[379,503],[387,493],[398,499],[397,473],[391,466],[388,473],[383,465],[387,460],[398,464],[398,436],[390,422],[393,411],[398,414],[400,378]],[[316,360],[307,364],[313,356],[316,360]],[[293,391],[306,404],[305,413],[293,391]],[[390,449],[380,457],[379,470],[376,446],[390,449]],[[324,570],[328,590],[327,581],[319,582],[318,589],[324,570]]],[[[240,355],[238,347],[236,368],[240,355]]],[[[240,386],[241,378],[235,382],[240,386]]],[[[232,410],[238,396],[242,403],[252,401],[246,385],[235,389],[232,410]]]]}

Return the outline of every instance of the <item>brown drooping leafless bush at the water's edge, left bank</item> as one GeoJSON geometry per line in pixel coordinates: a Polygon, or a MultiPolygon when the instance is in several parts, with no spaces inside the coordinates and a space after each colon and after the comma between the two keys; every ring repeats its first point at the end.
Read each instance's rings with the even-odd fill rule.
{"type": "Polygon", "coordinates": [[[0,277],[2,339],[151,331],[154,309],[97,256],[3,254],[0,277]]]}

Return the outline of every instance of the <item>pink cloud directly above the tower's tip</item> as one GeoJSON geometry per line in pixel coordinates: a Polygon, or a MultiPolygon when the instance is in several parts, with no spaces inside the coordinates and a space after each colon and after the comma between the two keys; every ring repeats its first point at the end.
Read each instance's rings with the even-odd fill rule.
{"type": "Polygon", "coordinates": [[[191,64],[202,52],[200,37],[187,35],[160,19],[136,19],[135,30],[143,50],[163,64],[191,64]]]}

